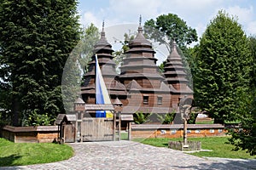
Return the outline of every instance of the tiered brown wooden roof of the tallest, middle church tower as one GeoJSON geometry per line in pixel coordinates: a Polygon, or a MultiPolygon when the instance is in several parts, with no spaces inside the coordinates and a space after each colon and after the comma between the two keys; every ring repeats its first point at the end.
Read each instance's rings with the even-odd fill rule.
{"type": "MultiPolygon", "coordinates": [[[[142,79],[159,79],[160,82],[164,80],[159,73],[159,68],[156,65],[157,59],[154,58],[154,49],[151,42],[143,36],[143,27],[138,26],[137,37],[129,42],[130,48],[125,54],[126,58],[123,60],[123,65],[120,67],[121,75],[119,76],[121,82],[125,83],[125,86],[132,80],[142,79]]],[[[158,84],[152,84],[151,88],[160,88],[160,82],[158,84]]],[[[148,88],[143,83],[139,83],[139,86],[148,88]]],[[[150,87],[149,87],[150,88],[150,87]]]]}

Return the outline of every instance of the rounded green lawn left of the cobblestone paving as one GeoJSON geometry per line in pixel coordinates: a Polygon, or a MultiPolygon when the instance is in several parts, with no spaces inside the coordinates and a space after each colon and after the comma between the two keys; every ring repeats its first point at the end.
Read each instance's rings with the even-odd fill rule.
{"type": "Polygon", "coordinates": [[[73,149],[67,144],[13,143],[0,138],[0,167],[62,161],[71,156],[73,149]]]}

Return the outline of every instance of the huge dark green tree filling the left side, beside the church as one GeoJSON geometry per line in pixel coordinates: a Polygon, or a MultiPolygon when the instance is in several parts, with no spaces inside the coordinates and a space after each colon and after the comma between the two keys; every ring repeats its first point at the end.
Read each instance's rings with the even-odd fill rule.
{"type": "Polygon", "coordinates": [[[62,69],[79,40],[78,19],[76,0],[1,0],[0,75],[11,86],[13,125],[64,112],[62,69]]]}

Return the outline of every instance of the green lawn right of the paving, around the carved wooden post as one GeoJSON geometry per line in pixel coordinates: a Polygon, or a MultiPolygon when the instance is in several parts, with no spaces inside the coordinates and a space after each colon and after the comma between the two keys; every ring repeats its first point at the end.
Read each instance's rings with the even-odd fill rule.
{"type": "MultiPolygon", "coordinates": [[[[250,156],[245,150],[232,150],[234,146],[231,144],[225,144],[228,142],[229,137],[206,137],[206,138],[189,138],[189,140],[201,141],[201,147],[203,150],[191,153],[194,156],[207,156],[207,157],[224,157],[224,158],[241,158],[241,159],[255,159],[256,156],[250,156]]],[[[134,141],[141,142],[143,144],[150,144],[158,147],[168,147],[170,140],[179,141],[183,139],[134,139],[134,141]]]]}

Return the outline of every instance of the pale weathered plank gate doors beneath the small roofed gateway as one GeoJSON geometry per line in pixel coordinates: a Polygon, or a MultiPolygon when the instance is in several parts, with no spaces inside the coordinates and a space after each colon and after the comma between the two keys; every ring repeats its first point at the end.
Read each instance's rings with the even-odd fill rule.
{"type": "Polygon", "coordinates": [[[113,118],[84,118],[81,137],[83,141],[113,140],[113,118]]]}

